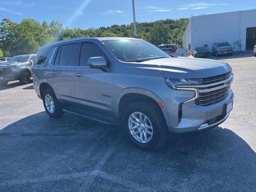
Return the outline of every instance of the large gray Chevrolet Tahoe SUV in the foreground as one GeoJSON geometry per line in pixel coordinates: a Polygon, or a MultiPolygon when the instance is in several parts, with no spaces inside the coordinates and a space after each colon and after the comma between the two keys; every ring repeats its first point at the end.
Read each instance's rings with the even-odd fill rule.
{"type": "Polygon", "coordinates": [[[34,89],[49,116],[64,112],[121,124],[138,147],[154,150],[169,132],[224,122],[233,104],[226,62],[172,58],[135,38],[76,38],[38,50],[34,89]]]}

